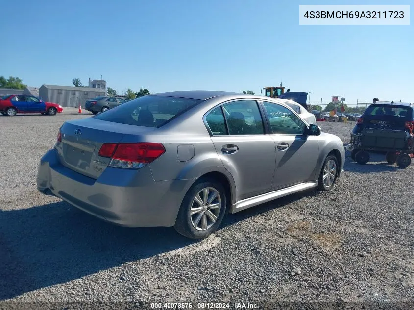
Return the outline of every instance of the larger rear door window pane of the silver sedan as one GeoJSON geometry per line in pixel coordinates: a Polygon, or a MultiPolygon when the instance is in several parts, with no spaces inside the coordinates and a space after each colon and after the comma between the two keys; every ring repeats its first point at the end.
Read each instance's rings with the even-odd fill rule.
{"type": "Polygon", "coordinates": [[[263,135],[263,119],[255,100],[239,100],[223,104],[230,135],[263,135]]]}

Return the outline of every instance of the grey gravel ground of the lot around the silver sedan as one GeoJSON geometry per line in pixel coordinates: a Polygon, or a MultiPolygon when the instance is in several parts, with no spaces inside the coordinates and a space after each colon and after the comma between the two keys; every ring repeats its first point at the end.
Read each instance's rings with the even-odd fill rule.
{"type": "MultiPolygon", "coordinates": [[[[0,116],[0,300],[414,301],[414,164],[374,154],[337,187],[228,215],[194,242],[113,226],[37,192],[55,117],[0,116]],[[410,183],[411,182],[411,183],[410,183]]],[[[355,122],[320,123],[344,143],[355,122]]]]}

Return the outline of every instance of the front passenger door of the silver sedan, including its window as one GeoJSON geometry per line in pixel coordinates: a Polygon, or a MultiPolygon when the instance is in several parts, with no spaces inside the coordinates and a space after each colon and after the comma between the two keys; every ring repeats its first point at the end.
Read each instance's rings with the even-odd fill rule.
{"type": "Polygon", "coordinates": [[[287,107],[263,101],[276,144],[276,165],[272,189],[277,190],[315,179],[318,136],[308,135],[303,120],[287,107]]]}

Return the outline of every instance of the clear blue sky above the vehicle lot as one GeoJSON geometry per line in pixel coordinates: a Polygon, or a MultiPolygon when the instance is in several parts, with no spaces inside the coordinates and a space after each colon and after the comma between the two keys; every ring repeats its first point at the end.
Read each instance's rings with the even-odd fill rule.
{"type": "Polygon", "coordinates": [[[88,77],[102,75],[118,93],[147,88],[260,94],[282,81],[291,91],[311,92],[311,102],[329,102],[332,95],[349,104],[373,97],[414,102],[412,22],[299,25],[299,4],[392,2],[5,1],[0,75],[38,87],[70,86],[75,77],[87,84],[88,77]]]}

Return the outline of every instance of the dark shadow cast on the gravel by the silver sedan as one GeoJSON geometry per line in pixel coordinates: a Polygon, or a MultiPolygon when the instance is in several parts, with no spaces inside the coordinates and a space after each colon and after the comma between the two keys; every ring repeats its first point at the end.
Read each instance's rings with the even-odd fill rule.
{"type": "MultiPolygon", "coordinates": [[[[315,194],[308,190],[227,215],[220,229],[315,194]]],[[[0,300],[197,242],[173,228],[115,226],[65,202],[0,210],[0,223],[0,300]]]]}

